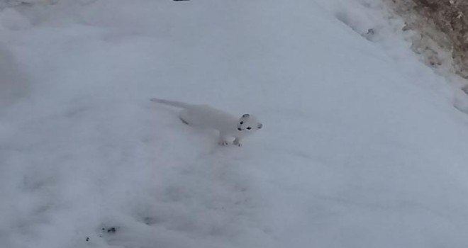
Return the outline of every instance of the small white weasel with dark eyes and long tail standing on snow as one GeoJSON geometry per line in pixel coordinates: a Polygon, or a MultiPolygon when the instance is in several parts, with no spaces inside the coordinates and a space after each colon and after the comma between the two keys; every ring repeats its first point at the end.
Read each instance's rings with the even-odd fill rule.
{"type": "Polygon", "coordinates": [[[234,137],[233,144],[240,146],[240,140],[263,127],[257,118],[246,113],[240,118],[212,108],[208,105],[193,105],[179,101],[151,98],[151,101],[182,108],[179,118],[183,123],[195,128],[212,128],[219,131],[219,145],[228,145],[228,139],[234,137]]]}

